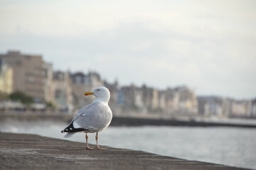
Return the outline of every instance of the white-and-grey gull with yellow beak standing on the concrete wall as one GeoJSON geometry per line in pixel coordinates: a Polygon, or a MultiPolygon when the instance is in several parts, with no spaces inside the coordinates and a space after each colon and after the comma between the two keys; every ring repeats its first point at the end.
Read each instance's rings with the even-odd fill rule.
{"type": "Polygon", "coordinates": [[[76,132],[85,132],[86,149],[104,149],[100,148],[97,140],[98,132],[105,130],[112,120],[112,111],[108,106],[110,91],[105,86],[99,86],[92,91],[85,92],[84,95],[93,95],[96,98],[92,103],[82,107],[68,127],[61,132],[67,132],[64,137],[73,137],[76,132]],[[96,148],[89,147],[88,132],[96,132],[96,148]]]}

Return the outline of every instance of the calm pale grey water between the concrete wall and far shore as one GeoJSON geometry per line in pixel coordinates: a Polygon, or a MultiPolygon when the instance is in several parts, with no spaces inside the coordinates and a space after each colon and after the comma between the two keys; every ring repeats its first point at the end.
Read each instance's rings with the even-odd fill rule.
{"type": "MultiPolygon", "coordinates": [[[[66,123],[5,121],[2,132],[33,133],[63,137],[66,123]]],[[[85,134],[68,138],[85,142],[85,134]]],[[[95,144],[95,134],[89,135],[95,144]]],[[[183,159],[256,169],[256,129],[188,127],[109,127],[99,134],[100,145],[137,149],[183,159]]]]}

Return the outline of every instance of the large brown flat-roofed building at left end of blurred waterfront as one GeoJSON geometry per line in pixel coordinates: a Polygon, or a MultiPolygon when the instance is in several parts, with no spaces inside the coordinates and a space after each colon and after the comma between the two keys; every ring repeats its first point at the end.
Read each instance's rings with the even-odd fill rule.
{"type": "Polygon", "coordinates": [[[0,55],[0,60],[1,63],[6,64],[6,68],[3,66],[2,69],[5,69],[4,77],[8,79],[6,83],[9,86],[7,91],[23,91],[39,100],[45,98],[41,55],[23,55],[18,51],[9,51],[0,55]]]}

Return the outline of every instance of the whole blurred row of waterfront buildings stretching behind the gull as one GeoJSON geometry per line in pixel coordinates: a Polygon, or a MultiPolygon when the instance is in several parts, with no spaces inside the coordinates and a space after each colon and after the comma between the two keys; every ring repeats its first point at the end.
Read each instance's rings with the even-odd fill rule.
{"type": "Polygon", "coordinates": [[[119,86],[103,81],[97,72],[55,72],[41,55],[9,51],[0,55],[0,92],[23,91],[35,101],[55,104],[63,111],[78,111],[93,101],[85,91],[106,86],[111,93],[114,115],[199,115],[220,118],[256,118],[256,99],[235,100],[219,96],[198,96],[188,86],[164,90],[146,85],[119,86]],[[75,108],[75,109],[73,109],[75,108]]]}

